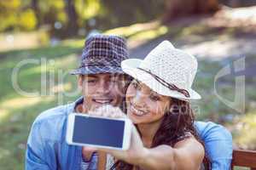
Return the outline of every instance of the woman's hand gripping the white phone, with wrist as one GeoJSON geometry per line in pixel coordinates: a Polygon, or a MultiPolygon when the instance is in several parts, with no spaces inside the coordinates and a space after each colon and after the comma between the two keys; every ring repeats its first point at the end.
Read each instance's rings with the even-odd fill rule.
{"type": "MultiPolygon", "coordinates": [[[[88,113],[90,116],[104,116],[110,118],[128,118],[123,111],[118,107],[113,107],[112,105],[104,105],[95,111],[90,111],[88,113]]],[[[131,143],[128,150],[109,150],[98,148],[96,150],[101,150],[109,153],[118,160],[123,160],[133,165],[139,165],[141,161],[146,157],[147,149],[144,148],[142,139],[137,132],[137,128],[131,124],[131,143]]]]}

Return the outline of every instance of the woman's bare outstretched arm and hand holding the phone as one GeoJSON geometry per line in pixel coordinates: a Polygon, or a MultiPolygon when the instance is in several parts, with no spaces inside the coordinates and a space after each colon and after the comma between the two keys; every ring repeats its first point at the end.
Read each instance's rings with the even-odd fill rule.
{"type": "MultiPolygon", "coordinates": [[[[125,116],[121,111],[96,111],[91,112],[96,116],[125,116]]],[[[126,161],[132,165],[144,169],[189,169],[198,170],[204,157],[203,146],[193,137],[177,142],[172,148],[162,144],[152,149],[143,146],[142,139],[137,132],[137,128],[131,125],[131,145],[128,150],[109,150],[98,148],[103,152],[109,153],[118,160],[126,161]]]]}

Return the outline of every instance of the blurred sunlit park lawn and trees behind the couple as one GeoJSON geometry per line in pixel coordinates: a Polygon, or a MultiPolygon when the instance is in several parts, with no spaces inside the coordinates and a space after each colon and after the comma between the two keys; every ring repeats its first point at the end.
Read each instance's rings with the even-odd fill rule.
{"type": "Polygon", "coordinates": [[[256,150],[253,5],[255,0],[0,0],[0,169],[24,169],[36,116],[79,97],[68,71],[79,65],[85,37],[99,32],[126,37],[131,58],[143,59],[164,39],[194,54],[194,88],[202,96],[193,102],[196,118],[227,127],[234,147],[256,150]],[[237,74],[235,63],[242,68],[237,74]],[[224,68],[227,74],[217,77],[224,68]],[[241,101],[231,105],[236,98],[241,101]]]}

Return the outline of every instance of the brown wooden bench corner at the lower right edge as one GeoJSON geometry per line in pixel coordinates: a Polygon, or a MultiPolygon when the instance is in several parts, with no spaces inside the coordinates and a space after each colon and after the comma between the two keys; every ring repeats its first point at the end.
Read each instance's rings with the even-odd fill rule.
{"type": "Polygon", "coordinates": [[[256,170],[256,150],[233,150],[231,169],[235,169],[235,166],[256,170]]]}

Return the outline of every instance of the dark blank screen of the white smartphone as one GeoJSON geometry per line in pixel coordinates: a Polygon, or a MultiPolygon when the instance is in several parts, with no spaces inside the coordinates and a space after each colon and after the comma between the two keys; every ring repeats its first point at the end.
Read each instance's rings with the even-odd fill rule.
{"type": "Polygon", "coordinates": [[[75,116],[73,142],[122,148],[124,130],[124,121],[75,116]]]}

